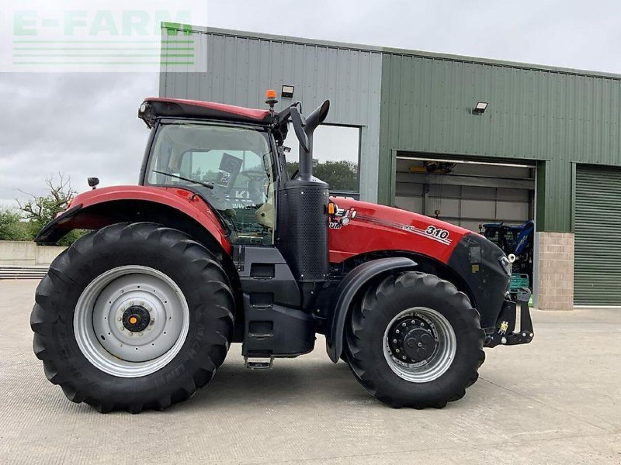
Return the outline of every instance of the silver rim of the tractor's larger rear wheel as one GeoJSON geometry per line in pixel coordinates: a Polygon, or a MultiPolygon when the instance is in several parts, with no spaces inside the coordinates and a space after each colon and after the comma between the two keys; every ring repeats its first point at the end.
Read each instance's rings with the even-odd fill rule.
{"type": "Polygon", "coordinates": [[[73,314],[73,332],[86,359],[108,374],[154,373],[179,353],[188,335],[188,303],[154,268],[127,265],[96,277],[73,314]]]}

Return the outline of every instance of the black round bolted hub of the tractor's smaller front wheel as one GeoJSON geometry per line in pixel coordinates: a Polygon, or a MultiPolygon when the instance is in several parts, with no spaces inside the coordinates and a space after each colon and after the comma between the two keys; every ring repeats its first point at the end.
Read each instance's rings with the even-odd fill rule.
{"type": "Polygon", "coordinates": [[[402,363],[425,361],[433,355],[437,347],[432,324],[419,316],[398,319],[388,333],[391,352],[402,363]]]}

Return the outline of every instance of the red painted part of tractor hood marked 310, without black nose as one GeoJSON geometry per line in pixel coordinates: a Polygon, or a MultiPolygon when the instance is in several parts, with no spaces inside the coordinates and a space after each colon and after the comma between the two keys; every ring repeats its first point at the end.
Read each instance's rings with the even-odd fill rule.
{"type": "Polygon", "coordinates": [[[351,198],[332,197],[330,262],[379,250],[404,250],[448,263],[468,229],[440,219],[351,198]]]}

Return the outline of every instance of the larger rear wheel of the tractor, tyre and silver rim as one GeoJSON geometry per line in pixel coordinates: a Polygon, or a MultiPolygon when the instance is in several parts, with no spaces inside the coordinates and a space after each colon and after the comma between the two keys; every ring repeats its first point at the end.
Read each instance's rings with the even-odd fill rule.
{"type": "Polygon", "coordinates": [[[165,409],[222,364],[233,296],[214,256],[181,231],[112,224],[65,250],[30,325],[47,378],[101,412],[165,409]]]}

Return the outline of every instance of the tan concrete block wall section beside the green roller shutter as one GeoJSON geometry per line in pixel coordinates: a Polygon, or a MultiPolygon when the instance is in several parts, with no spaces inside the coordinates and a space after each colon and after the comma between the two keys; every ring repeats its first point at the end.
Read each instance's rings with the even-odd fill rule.
{"type": "Polygon", "coordinates": [[[574,234],[537,232],[538,308],[571,310],[574,306],[574,234]]]}

